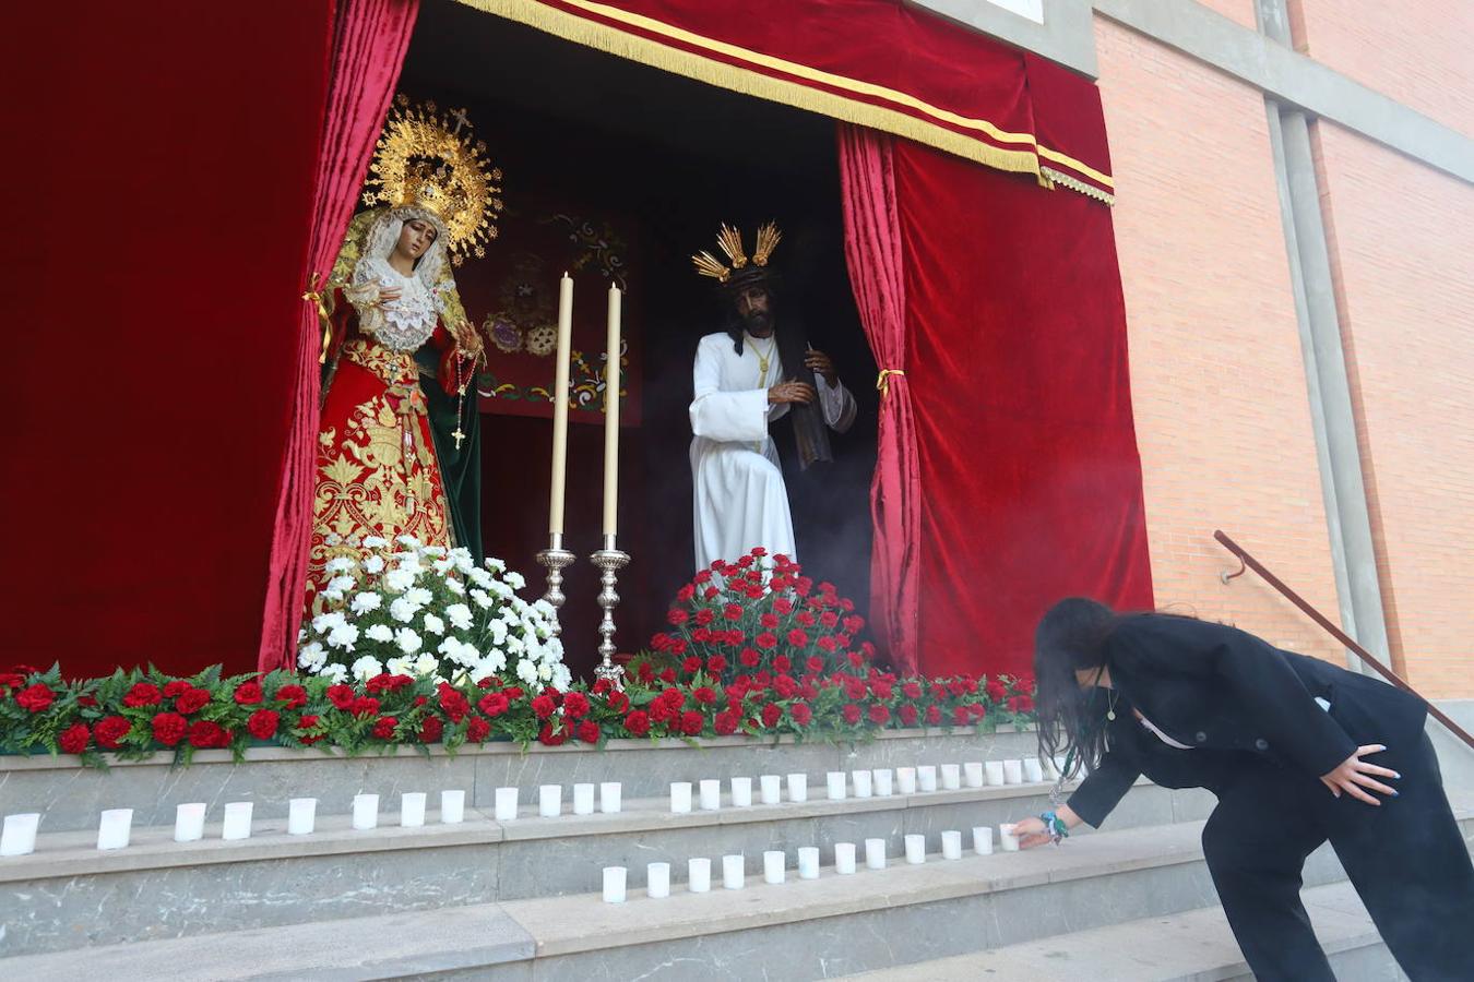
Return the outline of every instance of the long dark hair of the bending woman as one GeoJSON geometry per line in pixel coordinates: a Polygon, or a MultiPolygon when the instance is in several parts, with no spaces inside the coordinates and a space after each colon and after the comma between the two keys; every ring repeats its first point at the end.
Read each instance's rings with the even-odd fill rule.
{"type": "Polygon", "coordinates": [[[1101,690],[1082,689],[1075,673],[1106,664],[1106,639],[1116,620],[1104,604],[1072,596],[1051,607],[1033,635],[1039,752],[1047,760],[1066,754],[1066,777],[1097,767],[1106,752],[1101,690]]]}

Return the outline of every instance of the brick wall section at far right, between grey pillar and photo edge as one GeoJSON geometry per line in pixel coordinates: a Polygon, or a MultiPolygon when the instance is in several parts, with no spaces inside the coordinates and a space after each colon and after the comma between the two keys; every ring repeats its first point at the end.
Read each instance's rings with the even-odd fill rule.
{"type": "Polygon", "coordinates": [[[1474,695],[1474,187],[1315,128],[1394,657],[1474,695]]]}

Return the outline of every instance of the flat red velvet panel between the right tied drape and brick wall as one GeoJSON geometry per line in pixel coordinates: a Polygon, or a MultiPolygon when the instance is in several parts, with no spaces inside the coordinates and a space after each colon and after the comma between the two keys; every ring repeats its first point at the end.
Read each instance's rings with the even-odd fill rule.
{"type": "Polygon", "coordinates": [[[1110,209],[908,141],[895,174],[920,667],[1023,673],[1061,596],[1151,605],[1110,209]]]}

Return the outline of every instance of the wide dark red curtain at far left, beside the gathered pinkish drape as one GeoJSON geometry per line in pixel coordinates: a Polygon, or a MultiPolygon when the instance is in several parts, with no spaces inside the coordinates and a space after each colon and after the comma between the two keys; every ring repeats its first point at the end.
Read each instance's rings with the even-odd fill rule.
{"type": "Polygon", "coordinates": [[[332,22],[6,4],[6,663],[255,667],[332,22]]]}

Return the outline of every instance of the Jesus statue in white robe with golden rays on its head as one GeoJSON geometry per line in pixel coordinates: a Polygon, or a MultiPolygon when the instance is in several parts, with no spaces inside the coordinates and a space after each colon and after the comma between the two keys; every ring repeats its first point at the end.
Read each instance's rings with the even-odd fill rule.
{"type": "Polygon", "coordinates": [[[778,324],[777,275],[768,265],[780,233],[758,230],[753,255],[737,230],[722,225],[716,243],[731,265],[709,252],[693,256],[697,272],[718,281],[727,330],[696,350],[691,400],[691,483],[696,568],[736,561],[762,546],[797,558],[789,493],[768,427],[789,417],[808,468],[830,461],[828,430],[855,421],[855,398],[834,362],[803,337],[796,318],[778,324]]]}

